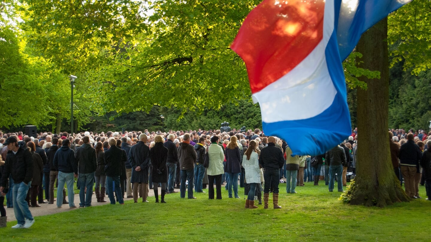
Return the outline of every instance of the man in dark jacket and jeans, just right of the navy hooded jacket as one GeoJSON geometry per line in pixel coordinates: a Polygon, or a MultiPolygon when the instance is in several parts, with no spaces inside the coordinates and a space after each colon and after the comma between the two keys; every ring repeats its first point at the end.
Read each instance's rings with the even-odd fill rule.
{"type": "Polygon", "coordinates": [[[82,144],[76,150],[75,162],[78,164],[79,208],[91,206],[94,172],[97,168],[96,150],[90,145],[90,137],[82,137],[82,144]],[[87,193],[85,193],[87,188],[87,193]]]}

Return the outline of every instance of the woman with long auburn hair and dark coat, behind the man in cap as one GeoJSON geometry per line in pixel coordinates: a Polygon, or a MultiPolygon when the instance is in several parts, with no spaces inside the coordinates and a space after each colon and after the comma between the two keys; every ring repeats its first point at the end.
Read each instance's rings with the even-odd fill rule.
{"type": "Polygon", "coordinates": [[[36,151],[36,145],[33,141],[29,141],[27,143],[27,147],[31,151],[31,155],[33,156],[33,179],[31,180],[31,187],[27,193],[27,202],[30,202],[32,208],[40,207],[41,205],[37,204],[37,193],[39,193],[39,184],[41,184],[41,174],[43,174],[43,162],[42,158],[36,151]]]}

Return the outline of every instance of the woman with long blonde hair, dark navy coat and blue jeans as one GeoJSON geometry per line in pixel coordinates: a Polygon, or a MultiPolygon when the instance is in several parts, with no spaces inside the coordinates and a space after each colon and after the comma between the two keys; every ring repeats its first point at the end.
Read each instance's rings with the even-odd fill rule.
{"type": "Polygon", "coordinates": [[[232,185],[234,187],[235,198],[238,196],[238,175],[241,172],[241,152],[237,144],[237,137],[232,136],[225,150],[226,166],[225,172],[229,174],[228,193],[229,198],[232,198],[232,185]]]}

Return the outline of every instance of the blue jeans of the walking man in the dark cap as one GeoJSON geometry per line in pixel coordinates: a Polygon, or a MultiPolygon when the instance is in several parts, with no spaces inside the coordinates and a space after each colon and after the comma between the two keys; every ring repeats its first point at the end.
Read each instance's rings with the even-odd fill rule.
{"type": "Polygon", "coordinates": [[[33,220],[28,203],[25,201],[28,189],[31,187],[31,181],[26,185],[24,182],[13,184],[13,211],[15,212],[18,224],[25,224],[25,219],[33,220]]]}

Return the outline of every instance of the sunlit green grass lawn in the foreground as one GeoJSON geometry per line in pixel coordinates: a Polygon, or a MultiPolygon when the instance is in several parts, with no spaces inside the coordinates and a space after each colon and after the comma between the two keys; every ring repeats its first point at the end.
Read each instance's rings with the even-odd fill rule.
{"type": "MultiPolygon", "coordinates": [[[[179,193],[166,195],[166,204],[103,205],[35,217],[29,229],[3,229],[3,241],[428,241],[431,202],[424,198],[387,208],[345,205],[340,193],[328,187],[297,187],[286,194],[280,184],[279,205],[244,208],[240,199],[229,199],[222,187],[222,200],[181,199],[179,193]]],[[[324,184],[324,183],[323,183],[324,184]]],[[[335,184],[336,186],[336,184],[335,184]]],[[[207,190],[205,190],[207,191],[207,190]]],[[[257,204],[257,202],[256,202],[257,204]]]]}

